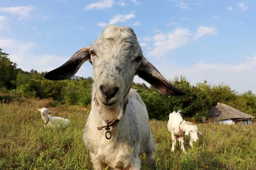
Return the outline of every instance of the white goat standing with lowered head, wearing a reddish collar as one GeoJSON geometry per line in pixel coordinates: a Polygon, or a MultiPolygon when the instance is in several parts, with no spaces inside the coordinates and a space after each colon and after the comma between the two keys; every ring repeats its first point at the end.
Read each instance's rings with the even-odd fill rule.
{"type": "Polygon", "coordinates": [[[168,130],[172,133],[172,151],[174,151],[176,139],[178,139],[181,143],[181,149],[184,153],[186,150],[184,148],[184,139],[183,139],[183,132],[185,135],[190,137],[189,144],[193,147],[193,142],[198,142],[198,135],[197,133],[202,134],[198,131],[198,127],[194,125],[192,122],[186,122],[183,120],[182,116],[180,115],[180,110],[178,112],[172,112],[169,114],[169,121],[168,121],[168,130]]]}

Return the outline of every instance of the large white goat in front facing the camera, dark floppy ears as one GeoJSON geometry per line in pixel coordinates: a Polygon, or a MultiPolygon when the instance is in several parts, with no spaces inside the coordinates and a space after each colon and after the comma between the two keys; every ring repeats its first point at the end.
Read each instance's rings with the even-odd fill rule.
{"type": "Polygon", "coordinates": [[[85,61],[93,65],[94,84],[83,139],[94,169],[102,170],[109,165],[115,170],[140,170],[139,155],[144,152],[155,169],[156,147],[146,106],[131,89],[134,76],[145,79],[165,95],[186,93],[170,84],[148,62],[136,34],[127,26],[108,25],[90,47],[77,51],[64,65],[44,77],[69,79],[85,61]],[[106,132],[101,130],[104,127],[106,132]]]}

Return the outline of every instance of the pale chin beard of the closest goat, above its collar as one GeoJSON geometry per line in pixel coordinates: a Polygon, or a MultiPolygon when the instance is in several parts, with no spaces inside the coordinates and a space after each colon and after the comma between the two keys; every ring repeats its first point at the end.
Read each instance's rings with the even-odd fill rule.
{"type": "Polygon", "coordinates": [[[122,118],[122,103],[114,105],[113,107],[106,107],[105,105],[99,106],[102,116],[105,120],[121,119],[122,118]]]}

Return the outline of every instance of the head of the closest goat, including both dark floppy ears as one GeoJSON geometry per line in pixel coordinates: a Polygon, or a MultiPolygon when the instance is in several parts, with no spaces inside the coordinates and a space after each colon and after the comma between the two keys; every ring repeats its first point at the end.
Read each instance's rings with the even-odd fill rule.
{"type": "MultiPolygon", "coordinates": [[[[93,65],[96,98],[104,107],[123,102],[135,75],[165,95],[186,94],[170,84],[143,56],[133,29],[108,25],[90,47],[77,51],[64,65],[44,75],[49,80],[69,79],[81,65],[93,65]]],[[[94,94],[93,94],[94,95],[94,94]]]]}

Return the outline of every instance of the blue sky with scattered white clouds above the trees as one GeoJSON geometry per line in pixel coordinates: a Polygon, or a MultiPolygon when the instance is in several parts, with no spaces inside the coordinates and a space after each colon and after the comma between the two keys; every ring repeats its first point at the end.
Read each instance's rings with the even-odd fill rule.
{"type": "Polygon", "coordinates": [[[0,0],[0,48],[25,71],[57,68],[108,24],[133,28],[166,79],[256,94],[255,0],[0,0]]]}

